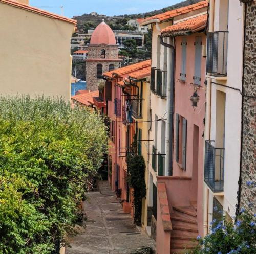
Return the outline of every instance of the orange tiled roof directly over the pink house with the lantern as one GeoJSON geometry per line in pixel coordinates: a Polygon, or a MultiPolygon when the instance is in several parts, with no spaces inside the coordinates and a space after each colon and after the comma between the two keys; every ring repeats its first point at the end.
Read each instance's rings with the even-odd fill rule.
{"type": "Polygon", "coordinates": [[[207,24],[207,14],[195,18],[187,19],[172,26],[168,26],[161,30],[161,33],[175,33],[179,31],[196,32],[205,28],[207,24]]]}

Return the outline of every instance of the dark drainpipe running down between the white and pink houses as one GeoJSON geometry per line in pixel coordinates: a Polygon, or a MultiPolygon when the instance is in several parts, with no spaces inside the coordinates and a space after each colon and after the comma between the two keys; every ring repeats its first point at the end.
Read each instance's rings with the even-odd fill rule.
{"type": "Polygon", "coordinates": [[[175,48],[173,44],[168,44],[160,37],[160,43],[168,48],[167,54],[167,121],[166,121],[166,145],[165,145],[165,175],[173,175],[173,119],[174,119],[174,70],[175,70],[175,48]]]}

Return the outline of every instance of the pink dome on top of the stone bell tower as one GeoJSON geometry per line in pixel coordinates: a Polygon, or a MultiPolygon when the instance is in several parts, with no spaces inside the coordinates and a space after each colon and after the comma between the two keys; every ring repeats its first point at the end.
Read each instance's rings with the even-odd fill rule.
{"type": "Polygon", "coordinates": [[[90,44],[116,45],[115,34],[108,24],[103,21],[95,28],[90,44]]]}

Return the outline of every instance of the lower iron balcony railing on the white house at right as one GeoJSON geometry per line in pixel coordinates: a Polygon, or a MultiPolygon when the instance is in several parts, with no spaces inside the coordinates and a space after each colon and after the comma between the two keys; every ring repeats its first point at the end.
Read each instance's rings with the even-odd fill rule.
{"type": "Polygon", "coordinates": [[[223,192],[225,148],[215,148],[205,141],[204,181],[213,192],[223,192]]]}

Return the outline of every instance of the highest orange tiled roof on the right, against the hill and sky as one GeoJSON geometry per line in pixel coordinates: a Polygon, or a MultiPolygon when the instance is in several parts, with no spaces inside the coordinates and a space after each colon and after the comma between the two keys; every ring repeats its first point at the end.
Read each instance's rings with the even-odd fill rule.
{"type": "Polygon", "coordinates": [[[188,13],[190,11],[201,9],[201,8],[204,8],[204,7],[207,7],[207,6],[208,6],[208,0],[200,1],[200,2],[198,2],[196,4],[193,4],[193,5],[184,6],[184,7],[181,7],[179,9],[174,9],[172,11],[167,11],[165,13],[157,14],[157,15],[152,16],[152,17],[147,17],[147,18],[141,20],[140,24],[143,24],[143,23],[151,21],[151,20],[152,20],[152,22],[153,22],[153,20],[158,20],[158,22],[165,21],[165,20],[168,20],[170,18],[176,17],[178,15],[185,14],[185,13],[188,13]]]}

